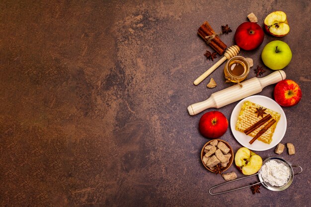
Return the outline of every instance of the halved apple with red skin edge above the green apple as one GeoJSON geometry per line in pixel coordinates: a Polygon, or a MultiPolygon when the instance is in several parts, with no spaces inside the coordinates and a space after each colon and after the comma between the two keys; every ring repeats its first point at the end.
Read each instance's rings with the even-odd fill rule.
{"type": "Polygon", "coordinates": [[[290,32],[286,13],[274,11],[265,18],[264,25],[266,31],[276,37],[283,37],[290,32]]]}

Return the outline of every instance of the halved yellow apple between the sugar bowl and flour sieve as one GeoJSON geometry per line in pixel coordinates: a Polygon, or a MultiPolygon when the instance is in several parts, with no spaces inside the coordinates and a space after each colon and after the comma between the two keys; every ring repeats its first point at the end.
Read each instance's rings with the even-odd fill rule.
{"type": "Polygon", "coordinates": [[[235,166],[244,175],[253,175],[259,171],[262,165],[261,157],[246,147],[239,148],[234,157],[235,166]]]}

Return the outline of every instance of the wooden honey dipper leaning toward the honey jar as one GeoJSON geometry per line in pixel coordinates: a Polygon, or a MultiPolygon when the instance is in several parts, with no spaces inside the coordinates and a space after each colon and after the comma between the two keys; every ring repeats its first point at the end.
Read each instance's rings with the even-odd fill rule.
{"type": "Polygon", "coordinates": [[[238,52],[240,51],[240,48],[237,45],[233,45],[230,48],[228,48],[224,54],[224,57],[220,59],[217,63],[215,63],[214,66],[212,66],[210,69],[206,70],[200,77],[198,77],[193,84],[198,85],[200,82],[202,82],[207,76],[209,76],[215,69],[217,69],[222,63],[225,61],[233,58],[234,56],[237,56],[238,52]]]}

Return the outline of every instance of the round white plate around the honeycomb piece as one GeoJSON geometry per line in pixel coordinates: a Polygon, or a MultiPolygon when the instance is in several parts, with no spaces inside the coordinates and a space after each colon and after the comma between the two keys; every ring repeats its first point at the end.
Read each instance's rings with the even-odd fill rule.
{"type": "Polygon", "coordinates": [[[236,104],[236,106],[234,107],[232,111],[231,118],[230,118],[230,127],[231,127],[231,131],[232,131],[234,138],[242,146],[245,146],[249,148],[250,150],[255,150],[255,151],[263,151],[263,150],[271,149],[272,147],[277,145],[285,135],[286,126],[287,126],[286,116],[285,116],[283,109],[280,107],[280,105],[277,102],[275,102],[274,100],[266,96],[255,95],[255,96],[249,96],[247,98],[244,98],[243,100],[238,102],[238,104],[236,104]],[[259,104],[265,108],[271,109],[281,114],[281,118],[276,125],[275,131],[272,137],[272,141],[270,144],[264,143],[259,140],[255,140],[254,143],[249,144],[248,142],[252,139],[252,137],[247,136],[244,133],[235,130],[235,125],[237,122],[239,112],[242,108],[244,101],[246,100],[259,104]]]}

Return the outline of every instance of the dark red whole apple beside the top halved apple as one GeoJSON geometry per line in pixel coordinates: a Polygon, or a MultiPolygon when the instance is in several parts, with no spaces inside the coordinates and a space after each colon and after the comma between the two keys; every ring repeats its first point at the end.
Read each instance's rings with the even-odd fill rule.
{"type": "Polygon", "coordinates": [[[264,32],[255,22],[240,24],[234,34],[235,43],[243,50],[254,50],[263,42],[264,32]]]}

